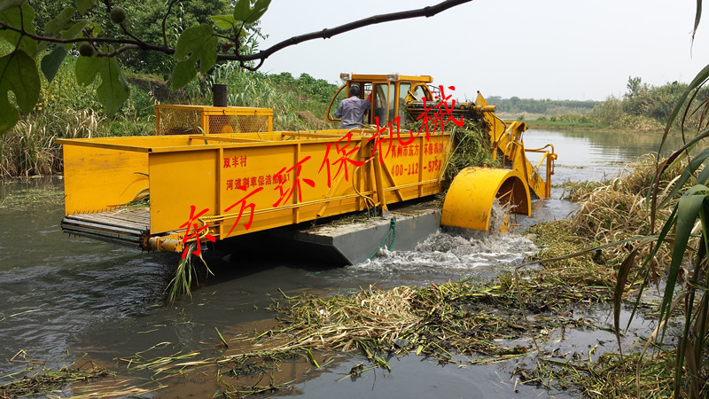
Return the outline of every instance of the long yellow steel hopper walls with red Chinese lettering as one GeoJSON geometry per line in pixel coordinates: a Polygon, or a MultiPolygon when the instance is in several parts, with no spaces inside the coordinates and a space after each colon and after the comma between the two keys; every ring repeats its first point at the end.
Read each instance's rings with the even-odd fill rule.
{"type": "Polygon", "coordinates": [[[200,237],[226,239],[441,192],[448,133],[381,135],[337,129],[58,140],[65,213],[130,207],[147,191],[149,231],[140,245],[181,252],[196,240],[184,227],[191,207],[206,209],[193,221],[207,226],[200,237]]]}

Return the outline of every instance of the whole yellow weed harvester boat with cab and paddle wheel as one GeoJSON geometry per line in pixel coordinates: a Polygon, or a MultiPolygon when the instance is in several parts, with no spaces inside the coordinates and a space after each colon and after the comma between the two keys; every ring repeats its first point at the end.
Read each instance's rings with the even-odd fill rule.
{"type": "MultiPolygon", "coordinates": [[[[372,95],[369,122],[381,125],[428,115],[430,76],[343,75],[372,95]],[[405,111],[405,112],[404,112],[405,111]],[[386,123],[385,123],[386,122],[386,123]]],[[[504,122],[478,96],[456,103],[455,118],[483,118],[495,154],[510,168],[468,168],[450,185],[441,224],[487,230],[501,199],[529,215],[530,189],[549,196],[556,154],[526,160],[522,122],[504,122]],[[542,178],[541,163],[546,163],[542,178]]],[[[454,143],[445,129],[272,131],[270,109],[156,106],[157,135],[61,139],[65,217],[77,236],[183,252],[190,243],[342,215],[418,199],[443,190],[454,143]]],[[[328,115],[329,121],[335,121],[328,115]]],[[[367,122],[367,121],[365,121],[367,122]]],[[[184,254],[184,252],[183,252],[184,254]]]]}

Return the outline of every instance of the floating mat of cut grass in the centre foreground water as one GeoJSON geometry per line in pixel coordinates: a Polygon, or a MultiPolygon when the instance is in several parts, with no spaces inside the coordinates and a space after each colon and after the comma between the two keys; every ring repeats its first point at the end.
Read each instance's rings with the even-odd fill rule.
{"type": "Polygon", "coordinates": [[[277,329],[261,332],[255,340],[248,337],[224,340],[230,348],[250,346],[250,351],[189,362],[179,354],[152,360],[138,356],[126,361],[136,370],[184,372],[214,363],[234,364],[236,370],[250,362],[293,357],[307,359],[320,367],[313,355],[315,350],[358,350],[374,366],[386,369],[389,369],[387,355],[409,352],[433,356],[444,364],[455,354],[495,356],[501,360],[524,356],[528,351],[522,346],[509,348],[504,342],[562,326],[588,326],[587,321],[569,316],[573,304],[611,298],[608,287],[558,285],[553,278],[534,278],[534,274],[526,277],[519,284],[521,293],[508,273],[486,285],[452,282],[400,286],[387,291],[370,287],[329,298],[308,293],[285,297],[284,303],[277,302],[270,308],[283,315],[277,329]],[[543,313],[546,317],[526,325],[522,311],[543,313]]]}

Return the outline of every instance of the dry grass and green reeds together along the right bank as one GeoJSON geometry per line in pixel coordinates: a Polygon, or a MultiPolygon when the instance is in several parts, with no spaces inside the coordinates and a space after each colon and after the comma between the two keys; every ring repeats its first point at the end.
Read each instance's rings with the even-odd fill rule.
{"type": "MultiPolygon", "coordinates": [[[[709,130],[705,129],[686,147],[697,146],[706,137],[709,130]]],[[[613,313],[619,341],[627,328],[620,324],[626,301],[635,317],[640,307],[658,315],[655,331],[630,353],[619,351],[602,356],[596,364],[565,364],[538,373],[558,378],[573,374],[591,397],[709,394],[709,187],[705,185],[709,148],[696,150],[690,157],[680,149],[674,158],[658,164],[644,160],[624,178],[575,192],[581,200],[577,215],[534,229],[550,247],[543,257],[616,244],[604,249],[603,255],[598,251],[585,259],[566,259],[556,267],[608,266],[605,274],[615,280],[613,313]],[[673,161],[682,158],[688,163],[673,161]],[[658,304],[643,303],[643,291],[650,289],[658,290],[662,298],[658,304]]]]}

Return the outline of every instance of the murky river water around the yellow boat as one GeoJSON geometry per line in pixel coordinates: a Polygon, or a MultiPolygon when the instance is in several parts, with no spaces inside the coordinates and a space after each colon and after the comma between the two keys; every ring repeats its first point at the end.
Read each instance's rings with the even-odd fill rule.
{"type": "MultiPolygon", "coordinates": [[[[560,184],[612,176],[627,162],[656,151],[659,137],[529,130],[525,141],[527,148],[555,145],[554,183],[560,184]]],[[[677,144],[676,139],[670,143],[677,144]]],[[[214,327],[227,339],[263,331],[274,324],[275,315],[265,308],[281,295],[279,290],[327,295],[370,285],[389,288],[489,278],[534,252],[531,241],[518,235],[477,240],[438,232],[417,251],[380,254],[347,267],[265,255],[253,259],[237,254],[230,259],[238,261],[227,257],[222,261],[222,254],[215,254],[210,258],[215,276],[202,276],[191,298],[168,304],[164,289],[175,271],[175,254],[143,253],[66,236],[59,228],[60,196],[43,197],[47,186],[60,192],[61,179],[0,184],[0,384],[7,382],[3,376],[27,367],[22,361],[46,362],[52,368],[92,361],[118,372],[119,378],[147,379],[149,374],[127,376],[121,372],[125,364],[115,359],[135,356],[157,344],[161,351],[155,356],[214,350],[219,342],[214,327]],[[32,204],[8,205],[13,201],[32,204]]],[[[573,212],[572,204],[559,199],[561,188],[552,194],[553,199],[535,201],[534,217],[522,221],[523,225],[573,212]]],[[[509,397],[515,388],[510,370],[503,366],[443,367],[414,355],[390,361],[391,373],[374,371],[355,381],[337,381],[358,362],[361,356],[344,356],[323,371],[291,364],[285,373],[295,382],[280,395],[509,397]]],[[[152,395],[211,397],[217,389],[214,377],[204,375],[165,383],[168,387],[152,395]]],[[[548,395],[534,387],[516,388],[516,397],[548,395]]]]}

